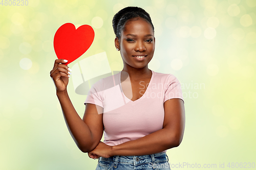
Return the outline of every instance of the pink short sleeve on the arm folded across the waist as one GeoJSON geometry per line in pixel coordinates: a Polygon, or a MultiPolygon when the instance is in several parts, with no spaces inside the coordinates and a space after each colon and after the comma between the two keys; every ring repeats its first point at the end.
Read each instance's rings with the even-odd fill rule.
{"type": "Polygon", "coordinates": [[[166,79],[164,102],[174,98],[181,99],[184,103],[181,84],[179,80],[174,75],[169,74],[166,79]]]}

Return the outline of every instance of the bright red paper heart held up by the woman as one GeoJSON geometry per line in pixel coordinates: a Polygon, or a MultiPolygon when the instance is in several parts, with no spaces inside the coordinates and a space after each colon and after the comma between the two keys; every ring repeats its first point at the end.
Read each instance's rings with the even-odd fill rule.
{"type": "Polygon", "coordinates": [[[89,25],[76,29],[73,23],[65,23],[54,35],[53,46],[58,59],[68,60],[65,65],[79,58],[93,43],[94,30],[89,25]]]}

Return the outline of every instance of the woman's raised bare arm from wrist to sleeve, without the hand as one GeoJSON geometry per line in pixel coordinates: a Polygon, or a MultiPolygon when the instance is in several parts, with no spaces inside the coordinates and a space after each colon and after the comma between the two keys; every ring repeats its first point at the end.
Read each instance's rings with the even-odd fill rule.
{"type": "Polygon", "coordinates": [[[102,126],[100,126],[100,123],[94,128],[92,128],[92,126],[94,126],[93,123],[102,120],[102,114],[97,113],[96,105],[87,104],[86,111],[84,111],[84,120],[82,120],[71,103],[67,91],[57,92],[56,94],[61,105],[66,125],[77,147],[82,152],[92,151],[102,137],[103,123],[101,122],[102,126]],[[91,120],[86,119],[86,117],[91,120]],[[86,122],[88,122],[89,126],[86,122]],[[90,124],[90,122],[92,122],[92,124],[90,124]],[[90,130],[90,127],[92,131],[90,130]]]}

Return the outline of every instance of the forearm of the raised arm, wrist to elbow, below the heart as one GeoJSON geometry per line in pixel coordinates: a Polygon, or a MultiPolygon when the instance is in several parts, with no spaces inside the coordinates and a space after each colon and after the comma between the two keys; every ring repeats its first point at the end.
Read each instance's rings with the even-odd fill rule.
{"type": "Polygon", "coordinates": [[[89,127],[77,114],[68,92],[56,92],[68,130],[82,152],[93,150],[93,139],[89,127]]]}

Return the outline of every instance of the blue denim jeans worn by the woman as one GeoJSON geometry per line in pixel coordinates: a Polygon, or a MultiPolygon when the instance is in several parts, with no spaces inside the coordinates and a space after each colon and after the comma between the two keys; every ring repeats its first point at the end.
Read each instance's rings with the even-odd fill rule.
{"type": "Polygon", "coordinates": [[[96,170],[125,170],[125,169],[156,169],[170,170],[166,153],[156,153],[141,156],[112,156],[98,159],[96,170]]]}

